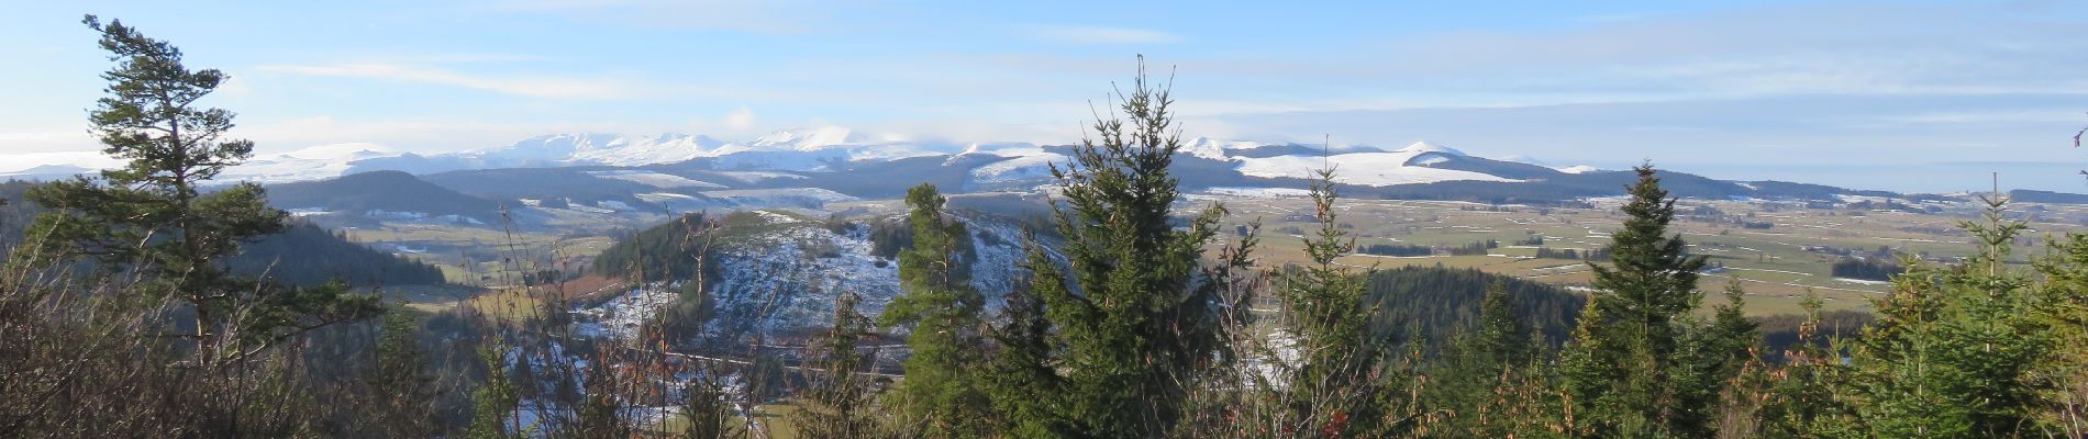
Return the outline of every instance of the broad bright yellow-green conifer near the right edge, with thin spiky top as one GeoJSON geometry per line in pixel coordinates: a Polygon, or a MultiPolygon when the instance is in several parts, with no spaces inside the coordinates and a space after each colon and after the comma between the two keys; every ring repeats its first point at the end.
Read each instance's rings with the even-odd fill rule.
{"type": "Polygon", "coordinates": [[[1986,223],[1961,223],[1979,254],[1950,268],[1913,264],[1894,291],[1873,300],[1850,364],[1854,408],[1873,437],[2042,435],[2046,399],[2040,366],[2059,354],[2040,318],[2046,304],[2023,275],[2007,268],[2009,246],[2025,231],[1990,198],[1986,223]]]}

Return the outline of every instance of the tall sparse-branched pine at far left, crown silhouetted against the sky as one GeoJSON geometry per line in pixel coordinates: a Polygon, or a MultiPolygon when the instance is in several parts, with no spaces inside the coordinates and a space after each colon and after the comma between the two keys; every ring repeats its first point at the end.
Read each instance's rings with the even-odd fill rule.
{"type": "MultiPolygon", "coordinates": [[[[190,71],[182,50],[111,21],[84,21],[100,31],[117,62],[102,73],[109,96],[88,121],[102,152],[127,160],[100,179],[35,187],[29,200],[54,210],[31,235],[50,235],[63,254],[92,256],[102,268],[138,268],[134,289],[148,300],[171,298],[194,314],[196,360],[244,360],[292,335],[332,322],[382,314],[376,298],[347,295],[345,285],[280,287],[232,275],[226,258],[240,246],[288,225],[255,183],[211,193],[200,185],[246,160],[253,141],[226,139],[232,112],[198,108],[226,81],[215,69],[190,71]]],[[[44,254],[61,254],[42,250],[44,254]]]]}

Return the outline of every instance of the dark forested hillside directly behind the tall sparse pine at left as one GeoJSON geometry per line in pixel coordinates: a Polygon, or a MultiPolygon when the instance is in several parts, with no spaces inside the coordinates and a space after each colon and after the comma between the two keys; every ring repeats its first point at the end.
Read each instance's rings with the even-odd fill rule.
{"type": "MultiPolygon", "coordinates": [[[[6,206],[0,206],[0,252],[19,246],[29,221],[46,212],[35,202],[23,200],[23,191],[29,187],[35,187],[35,183],[0,183],[0,200],[6,200],[6,206]]],[[[305,223],[246,243],[244,252],[228,260],[228,264],[236,273],[267,273],[267,277],[290,285],[317,285],[332,279],[349,281],[357,287],[443,283],[443,270],[436,266],[378,252],[305,223]]]]}

